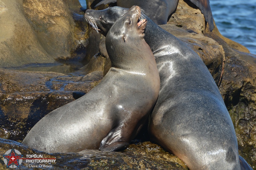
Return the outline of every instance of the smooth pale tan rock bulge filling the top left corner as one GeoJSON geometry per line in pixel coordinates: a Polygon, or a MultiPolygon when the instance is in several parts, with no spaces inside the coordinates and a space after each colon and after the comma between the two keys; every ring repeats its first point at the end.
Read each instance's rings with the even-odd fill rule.
{"type": "Polygon", "coordinates": [[[22,1],[3,0],[0,6],[0,67],[15,67],[31,61],[53,63],[54,58],[40,45],[28,22],[22,1]]]}

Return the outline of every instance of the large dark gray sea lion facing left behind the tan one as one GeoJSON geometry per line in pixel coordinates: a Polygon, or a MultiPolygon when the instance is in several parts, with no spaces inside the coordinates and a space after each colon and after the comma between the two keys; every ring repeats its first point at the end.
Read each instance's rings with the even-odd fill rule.
{"type": "MultiPolygon", "coordinates": [[[[87,10],[85,17],[104,35],[125,11],[121,7],[87,10]]],[[[144,39],[155,56],[161,82],[149,122],[152,139],[192,170],[251,169],[238,155],[233,123],[203,61],[185,43],[145,17],[144,39]]]]}

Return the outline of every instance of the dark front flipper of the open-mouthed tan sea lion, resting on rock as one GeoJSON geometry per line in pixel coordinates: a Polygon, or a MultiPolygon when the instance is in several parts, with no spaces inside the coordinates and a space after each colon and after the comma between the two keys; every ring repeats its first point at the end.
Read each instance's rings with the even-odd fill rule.
{"type": "MultiPolygon", "coordinates": [[[[127,133],[127,132],[126,132],[127,133]]],[[[118,151],[127,148],[129,142],[124,138],[129,136],[124,133],[124,126],[112,129],[106,137],[100,142],[101,151],[118,151]]]]}

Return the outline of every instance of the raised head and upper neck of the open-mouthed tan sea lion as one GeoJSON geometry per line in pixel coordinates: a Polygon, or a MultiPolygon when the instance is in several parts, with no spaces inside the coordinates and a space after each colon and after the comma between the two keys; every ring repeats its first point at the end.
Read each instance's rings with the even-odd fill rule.
{"type": "Polygon", "coordinates": [[[140,7],[132,6],[110,28],[106,36],[106,48],[112,67],[118,67],[116,65],[118,63],[130,63],[131,55],[143,53],[141,47],[147,44],[143,39],[146,24],[147,20],[141,13],[140,7]],[[134,51],[137,53],[133,54],[134,51]]]}

